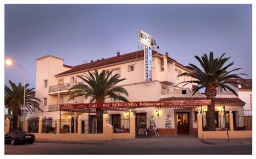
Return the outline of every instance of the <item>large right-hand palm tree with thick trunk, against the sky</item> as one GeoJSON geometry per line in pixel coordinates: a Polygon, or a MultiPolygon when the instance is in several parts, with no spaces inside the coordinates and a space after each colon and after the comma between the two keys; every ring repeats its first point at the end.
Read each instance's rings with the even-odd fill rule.
{"type": "MultiPolygon", "coordinates": [[[[184,81],[181,83],[186,83],[183,85],[183,87],[190,83],[195,83],[198,85],[197,89],[193,93],[193,95],[198,92],[200,89],[205,88],[205,96],[207,99],[211,100],[211,104],[208,105],[207,109],[207,115],[208,115],[208,123],[207,127],[208,130],[212,131],[215,130],[215,104],[213,103],[213,100],[217,95],[216,88],[223,88],[225,91],[230,90],[233,94],[237,95],[237,92],[234,91],[230,85],[228,84],[240,84],[238,82],[232,82],[227,81],[229,78],[237,78],[245,81],[242,77],[239,75],[247,75],[245,73],[234,73],[231,74],[233,71],[240,70],[241,68],[236,68],[228,71],[227,69],[234,64],[234,62],[229,63],[228,65],[224,66],[224,64],[229,60],[229,58],[223,58],[225,54],[222,54],[220,58],[214,59],[214,54],[210,52],[209,58],[206,54],[201,57],[201,59],[198,56],[195,56],[195,58],[199,61],[201,67],[200,69],[194,64],[189,64],[188,68],[192,70],[193,72],[188,73],[184,72],[178,76],[190,76],[192,77],[190,81],[184,81]],[[195,80],[193,80],[193,78],[195,80]]],[[[179,84],[181,84],[179,83],[179,84]]],[[[178,84],[178,85],[179,85],[178,84]]],[[[243,85],[243,84],[240,84],[243,85]]],[[[177,86],[177,85],[176,85],[177,86]]]]}

